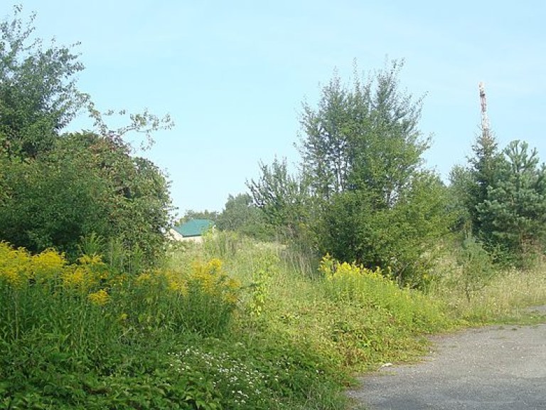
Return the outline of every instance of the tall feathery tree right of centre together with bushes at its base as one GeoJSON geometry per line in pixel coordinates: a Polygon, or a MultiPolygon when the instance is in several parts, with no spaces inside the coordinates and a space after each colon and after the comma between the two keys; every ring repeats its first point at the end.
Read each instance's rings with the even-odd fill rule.
{"type": "Polygon", "coordinates": [[[318,107],[304,105],[299,148],[319,250],[422,285],[451,217],[445,187],[422,170],[422,100],[400,91],[401,68],[394,61],[352,88],[334,75],[318,107]]]}

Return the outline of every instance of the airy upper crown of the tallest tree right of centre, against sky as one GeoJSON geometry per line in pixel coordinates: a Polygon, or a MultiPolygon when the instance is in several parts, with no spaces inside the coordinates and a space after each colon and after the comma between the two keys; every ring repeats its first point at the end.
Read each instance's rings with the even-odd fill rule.
{"type": "Polygon", "coordinates": [[[316,110],[304,104],[299,149],[314,194],[368,189],[388,207],[410,183],[429,140],[417,129],[422,100],[399,90],[402,65],[393,61],[364,85],[355,77],[352,89],[334,75],[316,110]]]}

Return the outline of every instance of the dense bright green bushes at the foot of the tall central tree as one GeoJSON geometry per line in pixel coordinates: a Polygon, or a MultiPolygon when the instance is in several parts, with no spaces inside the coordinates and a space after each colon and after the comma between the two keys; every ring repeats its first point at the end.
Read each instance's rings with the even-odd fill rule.
{"type": "Polygon", "coordinates": [[[452,220],[446,201],[444,184],[431,172],[415,175],[392,208],[378,209],[364,189],[343,191],[323,213],[321,253],[390,269],[405,285],[426,285],[452,220]]]}

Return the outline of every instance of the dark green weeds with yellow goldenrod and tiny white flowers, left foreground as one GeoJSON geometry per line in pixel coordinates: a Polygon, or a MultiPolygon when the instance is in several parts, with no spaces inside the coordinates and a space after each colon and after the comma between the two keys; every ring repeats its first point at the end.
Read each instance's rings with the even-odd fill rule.
{"type": "Polygon", "coordinates": [[[97,255],[69,264],[0,243],[2,406],[293,409],[333,389],[321,354],[245,331],[243,290],[218,258],[186,262],[127,275],[97,255]]]}

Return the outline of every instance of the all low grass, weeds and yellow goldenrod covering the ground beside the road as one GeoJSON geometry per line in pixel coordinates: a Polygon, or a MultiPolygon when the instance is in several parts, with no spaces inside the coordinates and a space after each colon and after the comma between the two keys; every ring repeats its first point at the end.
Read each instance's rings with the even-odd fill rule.
{"type": "Polygon", "coordinates": [[[9,409],[344,409],[353,372],[546,298],[539,272],[503,275],[471,300],[443,283],[425,295],[330,257],[296,270],[306,256],[236,233],[174,245],[138,274],[97,255],[0,251],[9,409]]]}

